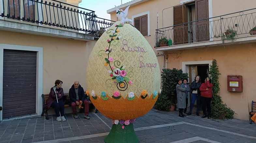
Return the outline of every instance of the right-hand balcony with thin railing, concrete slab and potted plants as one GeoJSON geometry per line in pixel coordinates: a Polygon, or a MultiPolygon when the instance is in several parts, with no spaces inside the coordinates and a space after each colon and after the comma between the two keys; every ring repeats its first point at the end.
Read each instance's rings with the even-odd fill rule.
{"type": "Polygon", "coordinates": [[[251,31],[255,26],[256,8],[164,27],[156,30],[156,49],[170,51],[256,42],[256,31],[251,31]]]}

